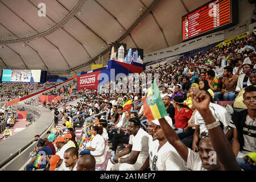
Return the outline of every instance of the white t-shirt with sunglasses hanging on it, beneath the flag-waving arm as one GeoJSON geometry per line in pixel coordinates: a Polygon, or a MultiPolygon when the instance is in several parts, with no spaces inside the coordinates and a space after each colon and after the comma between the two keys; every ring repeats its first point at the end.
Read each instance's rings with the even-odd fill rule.
{"type": "Polygon", "coordinates": [[[150,169],[151,171],[187,171],[183,165],[183,159],[175,148],[166,142],[158,151],[159,140],[155,140],[150,145],[150,169]],[[153,169],[155,163],[155,169],[153,169]]]}

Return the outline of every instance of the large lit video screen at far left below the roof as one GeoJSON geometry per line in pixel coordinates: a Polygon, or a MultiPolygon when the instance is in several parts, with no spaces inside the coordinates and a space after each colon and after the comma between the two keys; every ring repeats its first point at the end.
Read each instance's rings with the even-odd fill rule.
{"type": "Polygon", "coordinates": [[[2,81],[40,82],[40,69],[3,69],[2,81]]]}

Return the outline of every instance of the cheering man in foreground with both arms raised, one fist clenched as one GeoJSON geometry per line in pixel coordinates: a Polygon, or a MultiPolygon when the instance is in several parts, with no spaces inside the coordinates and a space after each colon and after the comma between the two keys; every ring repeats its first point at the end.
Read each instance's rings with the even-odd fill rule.
{"type": "Polygon", "coordinates": [[[168,142],[174,146],[181,158],[187,163],[187,167],[192,171],[205,170],[238,170],[241,168],[232,154],[232,148],[226,139],[221,128],[217,125],[210,125],[216,120],[209,110],[210,96],[202,90],[192,89],[193,106],[203,116],[206,126],[209,130],[209,137],[201,139],[199,143],[199,153],[193,152],[187,148],[177,137],[177,134],[168,124],[165,118],[159,119],[160,126],[168,142]],[[212,160],[210,151],[215,151],[217,156],[212,160]]]}

